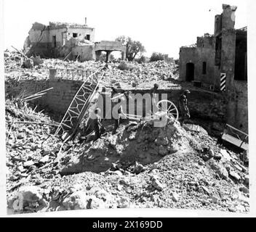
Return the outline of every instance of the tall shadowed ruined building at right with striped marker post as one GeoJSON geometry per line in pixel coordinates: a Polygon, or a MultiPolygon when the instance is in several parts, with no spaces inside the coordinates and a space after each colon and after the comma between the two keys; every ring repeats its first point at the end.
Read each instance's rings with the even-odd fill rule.
{"type": "Polygon", "coordinates": [[[248,132],[247,27],[236,30],[237,7],[223,4],[214,35],[180,48],[180,80],[220,92],[227,101],[227,123],[248,132]]]}

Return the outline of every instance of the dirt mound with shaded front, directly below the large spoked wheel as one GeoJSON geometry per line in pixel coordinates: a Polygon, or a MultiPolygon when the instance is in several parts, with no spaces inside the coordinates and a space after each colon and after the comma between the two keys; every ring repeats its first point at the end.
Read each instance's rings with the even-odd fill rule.
{"type": "Polygon", "coordinates": [[[80,146],[79,157],[77,153],[67,152],[60,160],[60,173],[100,173],[110,169],[113,163],[118,163],[123,169],[135,162],[147,165],[167,154],[190,150],[189,141],[190,136],[177,121],[169,120],[163,128],[154,127],[152,121],[128,123],[122,125],[118,133],[108,133],[98,139],[89,149],[80,146]]]}

